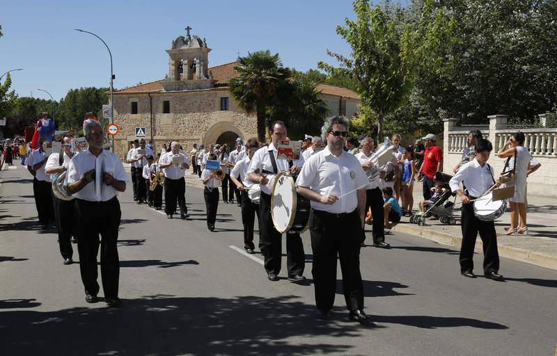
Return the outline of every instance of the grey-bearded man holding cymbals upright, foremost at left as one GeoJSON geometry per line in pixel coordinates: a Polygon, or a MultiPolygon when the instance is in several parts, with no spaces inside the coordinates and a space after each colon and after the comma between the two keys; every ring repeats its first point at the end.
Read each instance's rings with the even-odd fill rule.
{"type": "Polygon", "coordinates": [[[118,259],[118,228],[120,202],[116,197],[125,191],[127,174],[122,161],[102,149],[104,132],[96,120],[84,121],[88,149],[77,154],[68,166],[68,193],[75,197],[79,239],[79,270],[85,288],[86,302],[97,302],[97,253],[100,244],[100,271],[104,301],[109,307],[121,307],[118,298],[120,261],[118,259]],[[101,240],[99,240],[99,235],[101,240]]]}

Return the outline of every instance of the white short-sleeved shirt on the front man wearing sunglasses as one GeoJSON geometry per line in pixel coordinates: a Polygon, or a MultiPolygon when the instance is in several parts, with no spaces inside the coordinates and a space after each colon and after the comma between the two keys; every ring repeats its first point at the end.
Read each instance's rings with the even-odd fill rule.
{"type": "Polygon", "coordinates": [[[334,204],[322,204],[311,201],[313,209],[329,213],[351,213],[358,207],[356,189],[366,188],[368,178],[356,157],[343,151],[336,157],[331,154],[329,147],[311,156],[301,168],[296,181],[297,186],[303,186],[316,191],[320,195],[334,194],[338,197],[349,193],[334,204]]]}

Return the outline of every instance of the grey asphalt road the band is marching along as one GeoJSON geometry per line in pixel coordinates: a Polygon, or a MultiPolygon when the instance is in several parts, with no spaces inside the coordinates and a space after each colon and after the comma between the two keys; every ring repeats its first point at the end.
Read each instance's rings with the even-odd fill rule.
{"type": "Polygon", "coordinates": [[[125,305],[88,305],[79,266],[63,266],[54,231],[38,229],[29,174],[18,166],[0,178],[0,355],[531,356],[556,349],[556,271],[503,259],[505,282],[469,280],[455,250],[398,233],[387,237],[391,250],[361,253],[366,312],[377,326],[347,321],[340,293],[334,318],[316,321],[308,234],[308,282],[268,282],[258,254],[256,261],[230,248],[242,248],[240,209],[221,204],[211,233],[198,188],[187,191],[189,221],[137,206],[129,191],[120,196],[125,305]]]}

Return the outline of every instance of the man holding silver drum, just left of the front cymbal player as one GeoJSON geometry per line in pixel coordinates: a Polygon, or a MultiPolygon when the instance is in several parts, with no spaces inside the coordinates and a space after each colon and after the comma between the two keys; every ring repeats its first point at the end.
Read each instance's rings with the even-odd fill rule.
{"type": "MultiPolygon", "coordinates": [[[[70,165],[70,161],[74,156],[72,152],[72,138],[73,136],[70,134],[63,136],[62,156],[60,156],[59,152],[53,152],[49,156],[47,165],[45,165],[45,172],[47,175],[51,175],[51,180],[54,179],[54,175],[68,170],[68,165],[70,165]]],[[[74,254],[72,242],[77,242],[75,202],[73,200],[61,200],[54,195],[52,195],[52,202],[54,204],[54,219],[56,220],[56,229],[58,230],[60,253],[64,259],[64,264],[72,264],[74,254]]]]}

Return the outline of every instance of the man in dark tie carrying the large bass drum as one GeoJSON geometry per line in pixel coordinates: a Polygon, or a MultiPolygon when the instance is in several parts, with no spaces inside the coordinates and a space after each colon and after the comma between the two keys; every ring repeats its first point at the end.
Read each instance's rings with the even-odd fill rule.
{"type": "MultiPolygon", "coordinates": [[[[292,165],[285,159],[278,159],[278,140],[284,140],[287,136],[286,124],[275,121],[269,127],[272,142],[269,146],[258,149],[253,155],[248,168],[249,180],[261,186],[259,202],[259,247],[261,254],[265,257],[265,270],[269,281],[278,281],[278,273],[281,272],[282,236],[274,228],[271,219],[271,194],[274,178],[279,172],[292,172],[297,174],[300,168],[292,165]],[[258,170],[258,173],[256,173],[258,170]]],[[[300,157],[303,164],[303,159],[300,157]]],[[[286,263],[288,266],[288,280],[301,282],[304,277],[304,245],[298,233],[286,234],[286,263]]]]}

